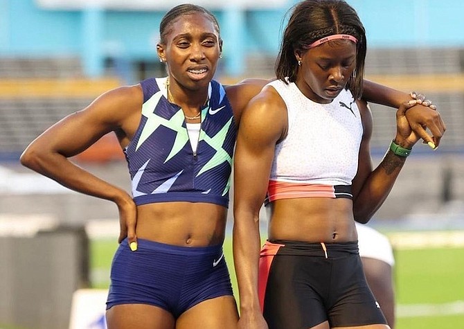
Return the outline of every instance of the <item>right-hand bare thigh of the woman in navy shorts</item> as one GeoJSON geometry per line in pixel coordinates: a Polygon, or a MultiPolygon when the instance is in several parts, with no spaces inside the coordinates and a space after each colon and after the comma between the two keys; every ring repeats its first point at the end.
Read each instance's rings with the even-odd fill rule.
{"type": "Polygon", "coordinates": [[[177,319],[176,329],[235,329],[237,304],[233,296],[207,299],[190,308],[177,319]]]}

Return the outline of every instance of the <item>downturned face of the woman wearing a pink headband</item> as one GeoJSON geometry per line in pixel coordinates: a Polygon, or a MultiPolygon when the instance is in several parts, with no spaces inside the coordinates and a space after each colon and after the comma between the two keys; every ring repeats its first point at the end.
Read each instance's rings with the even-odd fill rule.
{"type": "Polygon", "coordinates": [[[295,55],[301,60],[296,85],[317,103],[332,102],[356,68],[356,44],[350,40],[332,40],[295,55]]]}

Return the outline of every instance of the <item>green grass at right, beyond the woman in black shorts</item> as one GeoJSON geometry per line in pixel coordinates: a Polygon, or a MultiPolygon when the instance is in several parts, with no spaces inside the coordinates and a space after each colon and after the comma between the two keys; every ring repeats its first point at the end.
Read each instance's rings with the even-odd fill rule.
{"type": "MultiPolygon", "coordinates": [[[[395,292],[398,305],[464,301],[464,249],[395,251],[395,292]]],[[[445,312],[448,310],[445,310],[445,312]]],[[[464,328],[464,314],[397,317],[396,329],[464,328]]]]}

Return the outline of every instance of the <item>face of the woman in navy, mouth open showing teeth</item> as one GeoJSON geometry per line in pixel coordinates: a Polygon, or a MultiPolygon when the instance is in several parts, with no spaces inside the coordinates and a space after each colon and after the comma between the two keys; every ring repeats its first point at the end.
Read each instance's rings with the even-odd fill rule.
{"type": "Polygon", "coordinates": [[[168,26],[166,44],[158,44],[159,57],[182,86],[196,90],[213,79],[222,44],[213,21],[202,13],[183,15],[168,26]]]}

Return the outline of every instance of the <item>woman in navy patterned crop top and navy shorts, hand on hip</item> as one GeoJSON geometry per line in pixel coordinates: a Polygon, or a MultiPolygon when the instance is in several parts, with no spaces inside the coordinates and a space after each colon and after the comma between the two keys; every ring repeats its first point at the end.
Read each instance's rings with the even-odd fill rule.
{"type": "MultiPolygon", "coordinates": [[[[202,7],[172,8],[160,38],[167,77],[107,91],[37,137],[21,163],[118,207],[109,329],[235,328],[238,310],[222,253],[232,156],[242,110],[267,81],[213,80],[222,39],[202,7]],[[69,160],[109,132],[125,152],[132,195],[69,160]]],[[[369,82],[364,96],[392,107],[411,99],[369,82]]],[[[407,116],[433,140],[424,127],[439,123],[438,112],[420,105],[407,116]]]]}

